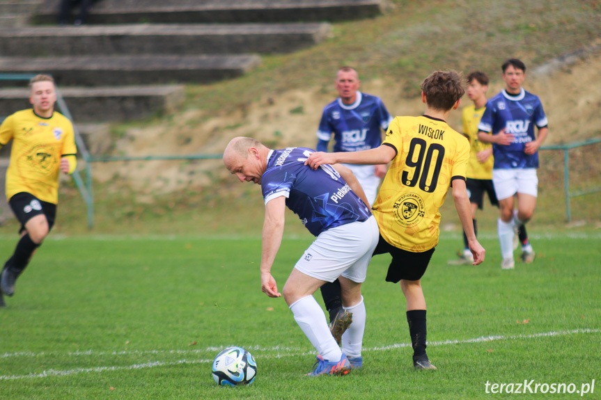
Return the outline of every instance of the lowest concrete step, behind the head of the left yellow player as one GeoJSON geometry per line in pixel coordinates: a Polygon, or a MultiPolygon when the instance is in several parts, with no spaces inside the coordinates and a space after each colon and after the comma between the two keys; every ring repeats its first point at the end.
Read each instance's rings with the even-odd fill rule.
{"type": "MultiPolygon", "coordinates": [[[[75,122],[145,118],[173,111],[185,99],[184,87],[179,85],[61,88],[60,91],[75,122]]],[[[0,119],[30,107],[26,88],[0,89],[0,119]]]]}

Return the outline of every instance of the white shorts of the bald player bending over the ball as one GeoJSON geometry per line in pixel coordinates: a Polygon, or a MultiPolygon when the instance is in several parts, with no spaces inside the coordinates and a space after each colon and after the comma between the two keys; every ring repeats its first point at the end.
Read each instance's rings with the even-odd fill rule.
{"type": "Polygon", "coordinates": [[[305,250],[295,269],[319,280],[334,282],[338,276],[364,282],[367,266],[380,230],[374,216],[321,232],[305,250]]]}

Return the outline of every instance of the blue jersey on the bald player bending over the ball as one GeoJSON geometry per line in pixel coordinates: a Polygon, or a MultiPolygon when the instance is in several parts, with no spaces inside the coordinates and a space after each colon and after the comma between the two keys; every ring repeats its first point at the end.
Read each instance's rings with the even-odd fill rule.
{"type": "Polygon", "coordinates": [[[313,151],[305,147],[270,151],[267,170],[261,177],[265,204],[286,196],[286,206],[315,236],[331,227],[369,218],[371,211],[334,168],[323,165],[312,170],[304,165],[313,151]]]}

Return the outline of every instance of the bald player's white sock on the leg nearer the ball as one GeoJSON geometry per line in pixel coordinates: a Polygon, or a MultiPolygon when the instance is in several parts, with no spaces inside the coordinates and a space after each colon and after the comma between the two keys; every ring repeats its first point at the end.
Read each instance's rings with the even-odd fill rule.
{"type": "Polygon", "coordinates": [[[290,305],[295,321],[324,360],[338,361],[342,351],[331,335],[325,314],[313,296],[303,297],[290,305]]]}

